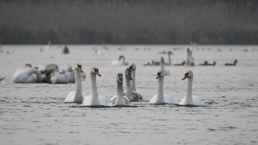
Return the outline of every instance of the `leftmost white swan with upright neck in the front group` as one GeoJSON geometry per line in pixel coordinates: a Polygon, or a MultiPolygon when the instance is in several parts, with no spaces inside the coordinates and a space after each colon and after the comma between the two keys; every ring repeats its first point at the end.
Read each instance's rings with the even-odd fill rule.
{"type": "Polygon", "coordinates": [[[87,96],[87,93],[82,92],[82,89],[81,89],[81,73],[83,73],[81,62],[76,62],[74,64],[74,72],[75,72],[76,91],[71,91],[65,98],[64,102],[82,103],[83,96],[87,96]]]}

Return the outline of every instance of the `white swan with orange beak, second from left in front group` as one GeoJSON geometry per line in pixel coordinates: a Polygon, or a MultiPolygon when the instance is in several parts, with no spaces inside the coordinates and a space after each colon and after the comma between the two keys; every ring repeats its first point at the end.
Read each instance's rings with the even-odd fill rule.
{"type": "Polygon", "coordinates": [[[95,105],[109,106],[106,98],[98,95],[96,75],[98,75],[99,77],[101,76],[99,74],[99,69],[97,68],[97,66],[92,66],[90,69],[92,95],[84,97],[82,106],[95,106],[95,105]]]}

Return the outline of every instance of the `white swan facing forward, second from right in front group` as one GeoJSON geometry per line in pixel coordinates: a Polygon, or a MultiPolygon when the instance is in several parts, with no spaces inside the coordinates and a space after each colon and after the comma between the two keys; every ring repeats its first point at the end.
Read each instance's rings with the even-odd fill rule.
{"type": "Polygon", "coordinates": [[[154,95],[150,101],[149,104],[157,104],[157,103],[168,103],[168,104],[174,104],[173,98],[169,95],[163,94],[163,85],[164,85],[164,72],[162,70],[157,71],[157,77],[158,79],[158,94],[154,95]]]}

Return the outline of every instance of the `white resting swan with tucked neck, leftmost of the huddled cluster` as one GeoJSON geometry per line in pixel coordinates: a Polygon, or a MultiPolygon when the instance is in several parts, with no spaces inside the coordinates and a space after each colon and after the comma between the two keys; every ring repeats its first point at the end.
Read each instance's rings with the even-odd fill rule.
{"type": "Polygon", "coordinates": [[[26,67],[15,72],[13,83],[41,83],[41,73],[35,68],[26,67]]]}

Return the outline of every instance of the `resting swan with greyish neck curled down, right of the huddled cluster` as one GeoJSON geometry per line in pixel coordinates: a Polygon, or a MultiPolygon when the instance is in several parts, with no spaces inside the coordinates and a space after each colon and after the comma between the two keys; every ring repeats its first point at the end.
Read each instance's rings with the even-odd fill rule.
{"type": "Polygon", "coordinates": [[[64,74],[60,74],[57,68],[49,68],[46,71],[46,77],[50,78],[50,82],[52,84],[68,84],[68,77],[64,74]]]}

